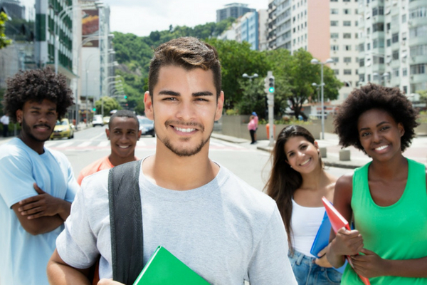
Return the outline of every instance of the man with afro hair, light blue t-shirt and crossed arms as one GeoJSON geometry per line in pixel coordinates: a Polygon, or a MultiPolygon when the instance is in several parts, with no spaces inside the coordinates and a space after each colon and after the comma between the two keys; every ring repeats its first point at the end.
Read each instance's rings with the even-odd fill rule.
{"type": "Polygon", "coordinates": [[[44,147],[73,97],[50,69],[7,81],[4,113],[21,125],[0,146],[0,284],[48,284],[46,266],[78,190],[65,155],[44,147]]]}

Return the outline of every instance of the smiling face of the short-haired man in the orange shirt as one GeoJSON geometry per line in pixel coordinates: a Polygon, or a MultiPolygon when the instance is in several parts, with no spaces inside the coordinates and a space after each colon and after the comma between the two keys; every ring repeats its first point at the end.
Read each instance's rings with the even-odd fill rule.
{"type": "Polygon", "coordinates": [[[135,147],[141,137],[135,118],[115,117],[110,122],[110,130],[105,129],[111,142],[111,153],[120,158],[135,156],[135,147]]]}

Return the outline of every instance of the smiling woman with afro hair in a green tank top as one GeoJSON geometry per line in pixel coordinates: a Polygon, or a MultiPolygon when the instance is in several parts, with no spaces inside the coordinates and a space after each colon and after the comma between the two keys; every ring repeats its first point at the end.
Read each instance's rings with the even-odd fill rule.
{"type": "Polygon", "coordinates": [[[355,229],[339,229],[327,259],[334,267],[351,257],[342,284],[427,284],[425,165],[402,152],[415,136],[416,111],[399,88],[369,83],[342,103],[335,131],[371,162],[337,180],[334,206],[355,229]]]}

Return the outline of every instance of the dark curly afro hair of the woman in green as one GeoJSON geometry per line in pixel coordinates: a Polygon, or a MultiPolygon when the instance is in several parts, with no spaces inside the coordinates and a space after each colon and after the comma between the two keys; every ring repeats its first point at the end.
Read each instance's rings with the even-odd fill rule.
{"type": "Polygon", "coordinates": [[[385,110],[396,123],[404,126],[405,133],[401,137],[402,152],[411,145],[411,141],[415,137],[414,128],[418,125],[417,112],[413,109],[412,103],[399,88],[388,88],[369,83],[354,89],[339,106],[334,126],[342,147],[352,145],[365,152],[359,140],[357,123],[360,115],[371,109],[385,110]]]}

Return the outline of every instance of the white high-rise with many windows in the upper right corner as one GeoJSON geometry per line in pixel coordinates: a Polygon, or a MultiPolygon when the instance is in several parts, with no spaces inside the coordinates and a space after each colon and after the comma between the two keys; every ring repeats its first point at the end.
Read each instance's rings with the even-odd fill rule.
{"type": "Polygon", "coordinates": [[[359,82],[427,90],[425,0],[359,0],[359,82]]]}

